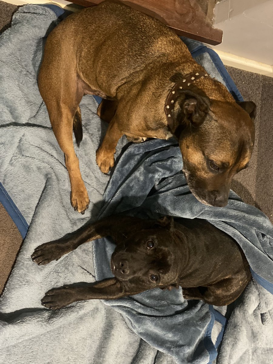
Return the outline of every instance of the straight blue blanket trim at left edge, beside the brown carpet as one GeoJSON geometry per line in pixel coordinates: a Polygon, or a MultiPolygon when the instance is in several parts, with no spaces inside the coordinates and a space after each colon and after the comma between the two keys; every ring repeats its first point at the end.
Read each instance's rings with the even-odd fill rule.
{"type": "Polygon", "coordinates": [[[4,189],[4,186],[0,182],[0,202],[6,209],[9,216],[12,218],[13,222],[17,226],[22,238],[24,239],[28,231],[28,223],[25,221],[23,215],[20,213],[19,209],[16,207],[15,203],[12,201],[11,197],[4,189]]]}

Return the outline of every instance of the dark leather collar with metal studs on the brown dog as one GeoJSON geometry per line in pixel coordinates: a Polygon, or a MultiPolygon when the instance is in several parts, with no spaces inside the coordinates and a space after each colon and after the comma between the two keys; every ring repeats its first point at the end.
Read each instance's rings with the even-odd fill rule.
{"type": "Polygon", "coordinates": [[[183,88],[186,88],[187,86],[190,86],[191,83],[194,83],[196,80],[198,80],[199,78],[202,77],[209,77],[209,75],[207,73],[203,73],[203,72],[195,72],[195,73],[191,73],[189,75],[184,76],[183,79],[181,79],[180,81],[178,81],[173,88],[171,89],[171,91],[169,92],[168,96],[167,96],[167,100],[165,103],[165,114],[166,114],[166,118],[167,118],[167,122],[169,127],[172,129],[173,126],[173,109],[174,109],[174,104],[176,99],[179,96],[179,90],[182,90],[183,88]]]}

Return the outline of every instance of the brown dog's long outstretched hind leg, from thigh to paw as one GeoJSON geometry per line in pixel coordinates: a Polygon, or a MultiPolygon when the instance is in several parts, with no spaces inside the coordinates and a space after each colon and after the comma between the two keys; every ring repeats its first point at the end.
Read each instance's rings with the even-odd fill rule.
{"type": "Polygon", "coordinates": [[[74,45],[69,38],[63,43],[63,38],[58,36],[58,29],[59,26],[47,38],[38,75],[38,87],[55,137],[64,153],[71,185],[71,205],[83,214],[89,198],[74,150],[72,130],[74,121],[75,137],[79,145],[82,139],[79,103],[84,87],[76,73],[76,58],[70,59],[67,56],[74,45]]]}

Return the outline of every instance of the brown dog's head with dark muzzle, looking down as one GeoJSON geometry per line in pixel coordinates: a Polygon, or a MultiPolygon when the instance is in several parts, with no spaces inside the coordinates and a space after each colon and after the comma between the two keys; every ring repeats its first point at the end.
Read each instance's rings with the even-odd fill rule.
{"type": "Polygon", "coordinates": [[[191,192],[206,205],[225,206],[232,178],[248,166],[252,154],[255,104],[209,99],[191,85],[181,91],[174,111],[191,192]]]}

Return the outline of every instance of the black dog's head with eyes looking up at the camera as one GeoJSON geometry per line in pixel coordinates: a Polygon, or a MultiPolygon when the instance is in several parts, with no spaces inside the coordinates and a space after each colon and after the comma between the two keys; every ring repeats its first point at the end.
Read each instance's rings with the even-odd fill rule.
{"type": "MultiPolygon", "coordinates": [[[[120,281],[145,289],[178,285],[181,252],[173,218],[162,218],[151,229],[140,230],[117,246],[111,257],[112,273],[120,281]]],[[[183,260],[183,259],[182,259],[183,260]]]]}

